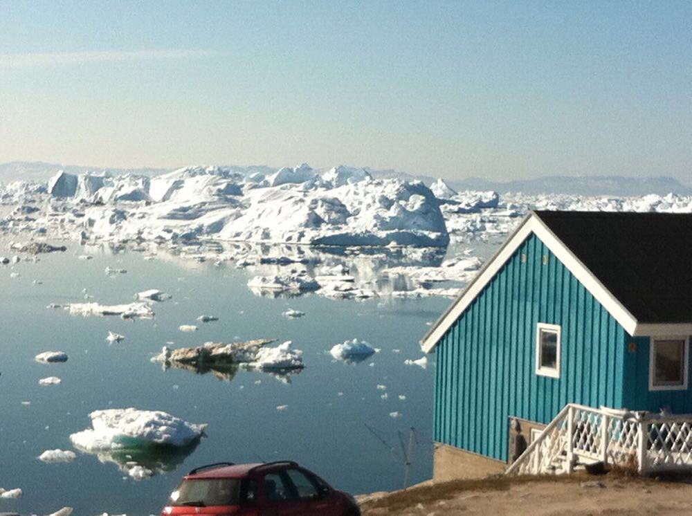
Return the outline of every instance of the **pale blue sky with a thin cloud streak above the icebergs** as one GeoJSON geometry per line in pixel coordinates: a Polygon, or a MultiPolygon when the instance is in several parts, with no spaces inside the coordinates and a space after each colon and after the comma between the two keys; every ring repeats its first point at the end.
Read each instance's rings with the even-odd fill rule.
{"type": "Polygon", "coordinates": [[[692,2],[0,0],[0,162],[692,183],[692,2]]]}

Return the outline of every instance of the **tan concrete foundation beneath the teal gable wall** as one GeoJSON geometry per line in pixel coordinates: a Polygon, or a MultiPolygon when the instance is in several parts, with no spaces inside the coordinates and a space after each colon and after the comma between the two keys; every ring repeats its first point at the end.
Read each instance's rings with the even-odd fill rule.
{"type": "Polygon", "coordinates": [[[432,480],[444,482],[455,479],[480,479],[502,473],[507,464],[460,448],[435,443],[435,465],[432,480]]]}

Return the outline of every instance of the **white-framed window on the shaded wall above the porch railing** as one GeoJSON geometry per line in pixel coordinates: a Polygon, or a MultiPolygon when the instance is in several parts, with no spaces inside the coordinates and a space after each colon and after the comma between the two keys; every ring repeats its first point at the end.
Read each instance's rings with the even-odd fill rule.
{"type": "Polygon", "coordinates": [[[682,390],[687,388],[689,360],[687,338],[651,340],[649,353],[649,390],[682,390]]]}

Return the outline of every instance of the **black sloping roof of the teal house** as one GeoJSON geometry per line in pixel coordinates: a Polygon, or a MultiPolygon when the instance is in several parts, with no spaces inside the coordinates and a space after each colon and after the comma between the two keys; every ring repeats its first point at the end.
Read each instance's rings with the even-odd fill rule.
{"type": "Polygon", "coordinates": [[[692,322],[692,214],[535,213],[638,322],[692,322]]]}

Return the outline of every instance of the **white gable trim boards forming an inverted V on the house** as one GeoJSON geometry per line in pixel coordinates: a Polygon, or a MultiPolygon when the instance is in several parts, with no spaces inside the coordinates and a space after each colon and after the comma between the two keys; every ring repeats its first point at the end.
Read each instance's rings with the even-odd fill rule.
{"type": "Polygon", "coordinates": [[[621,302],[608,291],[593,273],[579,260],[565,244],[549,230],[547,225],[538,216],[531,212],[521,225],[511,234],[507,242],[495,253],[495,256],[488,261],[480,270],[480,273],[468,284],[457,300],[442,314],[442,316],[432,325],[430,331],[421,340],[421,347],[426,353],[435,349],[437,342],[444,336],[446,331],[461,317],[466,308],[475,300],[483,288],[491,282],[500,268],[507,263],[507,260],[516,252],[519,246],[534,233],[545,246],[562,262],[588,290],[596,300],[612,315],[627,333],[630,335],[641,335],[637,333],[637,320],[625,308],[621,302]]]}

